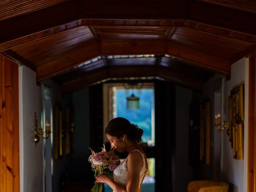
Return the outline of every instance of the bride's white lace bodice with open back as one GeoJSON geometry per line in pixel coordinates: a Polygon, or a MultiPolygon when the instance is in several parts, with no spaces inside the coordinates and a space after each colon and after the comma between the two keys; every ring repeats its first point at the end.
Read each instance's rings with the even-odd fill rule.
{"type": "MultiPolygon", "coordinates": [[[[134,151],[138,151],[139,150],[134,150],[134,151]]],[[[132,152],[134,152],[132,151],[132,152]]],[[[144,174],[146,171],[146,160],[144,158],[144,155],[142,152],[140,152],[140,154],[142,155],[142,160],[143,160],[143,164],[142,164],[142,168],[140,170],[140,183],[139,183],[139,187],[142,183],[142,180],[144,178],[144,174]]],[[[124,186],[126,186],[126,177],[127,177],[127,168],[126,168],[126,161],[128,159],[128,156],[115,168],[113,176],[114,176],[114,180],[124,186]]],[[[114,191],[113,191],[114,192],[114,191]]]]}

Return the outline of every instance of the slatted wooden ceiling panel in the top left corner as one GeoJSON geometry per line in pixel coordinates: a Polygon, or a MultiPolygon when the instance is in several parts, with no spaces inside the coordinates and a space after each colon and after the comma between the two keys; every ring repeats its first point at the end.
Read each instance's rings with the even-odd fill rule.
{"type": "Polygon", "coordinates": [[[0,21],[46,8],[67,0],[2,0],[0,2],[0,21]]]}

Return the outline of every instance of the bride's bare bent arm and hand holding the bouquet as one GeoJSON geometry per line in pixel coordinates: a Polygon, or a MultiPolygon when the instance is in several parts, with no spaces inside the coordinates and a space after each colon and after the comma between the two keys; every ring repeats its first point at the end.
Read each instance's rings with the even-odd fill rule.
{"type": "Polygon", "coordinates": [[[132,152],[127,161],[126,186],[114,181],[114,178],[106,175],[100,175],[95,182],[105,182],[115,192],[138,192],[140,182],[140,170],[142,167],[142,156],[139,152],[132,152]]]}

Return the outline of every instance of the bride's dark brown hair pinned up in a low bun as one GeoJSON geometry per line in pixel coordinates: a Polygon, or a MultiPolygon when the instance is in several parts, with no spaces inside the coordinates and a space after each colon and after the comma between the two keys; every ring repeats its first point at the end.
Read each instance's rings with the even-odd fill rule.
{"type": "Polygon", "coordinates": [[[105,134],[116,136],[117,138],[121,138],[126,134],[130,140],[140,143],[143,130],[136,124],[131,124],[126,118],[117,117],[110,120],[107,128],[105,129],[105,134]]]}

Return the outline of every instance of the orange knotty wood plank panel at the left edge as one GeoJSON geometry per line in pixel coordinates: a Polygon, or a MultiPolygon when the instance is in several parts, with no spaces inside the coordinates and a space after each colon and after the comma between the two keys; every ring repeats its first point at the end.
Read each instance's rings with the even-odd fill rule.
{"type": "Polygon", "coordinates": [[[0,191],[20,191],[18,65],[0,54],[0,191]]]}

